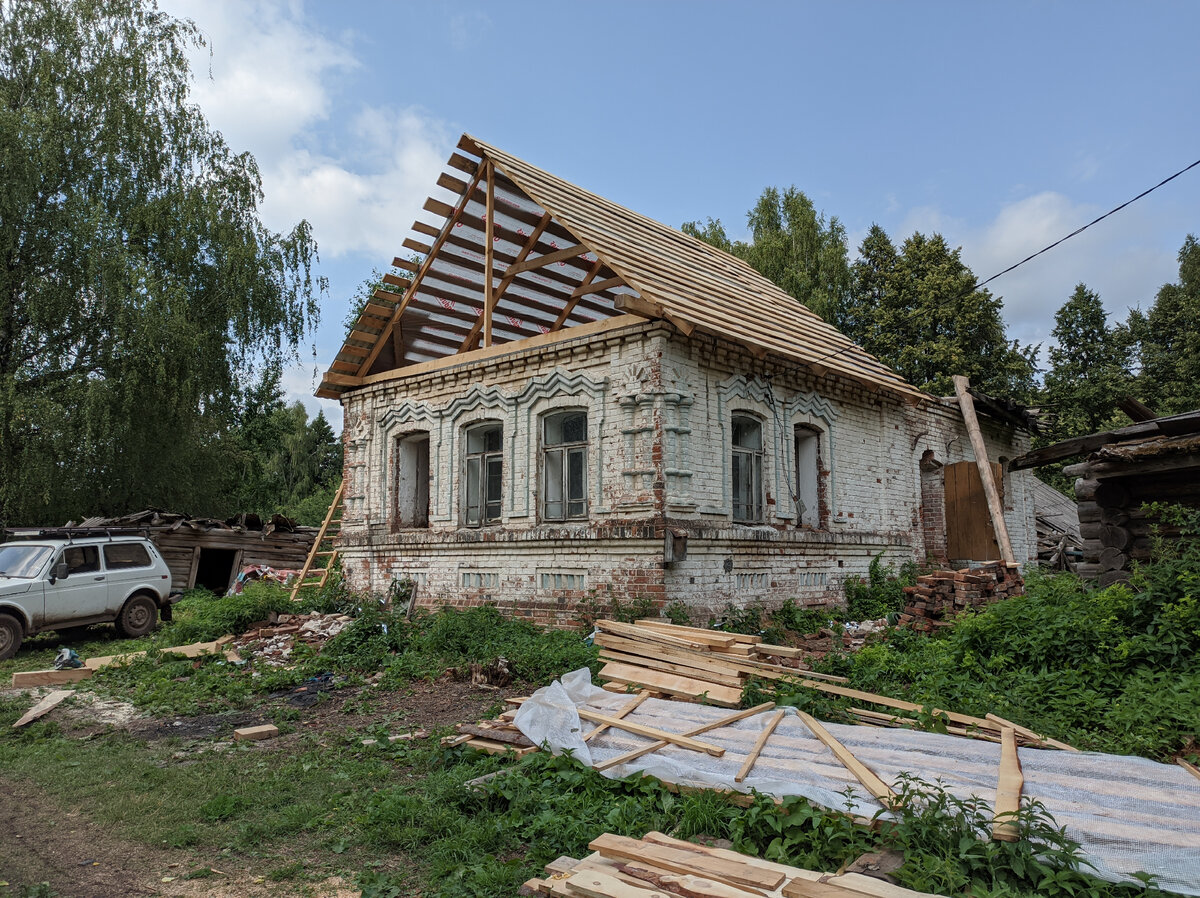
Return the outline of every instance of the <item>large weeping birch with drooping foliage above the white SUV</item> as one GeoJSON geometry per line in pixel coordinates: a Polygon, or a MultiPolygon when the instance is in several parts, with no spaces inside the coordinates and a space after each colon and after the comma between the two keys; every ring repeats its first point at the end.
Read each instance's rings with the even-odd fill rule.
{"type": "Polygon", "coordinates": [[[244,385],[318,317],[307,222],[190,102],[150,0],[0,5],[0,519],[222,513],[244,385]]]}

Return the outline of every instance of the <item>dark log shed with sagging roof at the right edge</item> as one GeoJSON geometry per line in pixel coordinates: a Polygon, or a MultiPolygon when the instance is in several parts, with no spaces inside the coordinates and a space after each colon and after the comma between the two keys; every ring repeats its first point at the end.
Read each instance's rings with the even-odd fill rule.
{"type": "MultiPolygon", "coordinates": [[[[1064,439],[1014,459],[1009,468],[1079,455],[1086,455],[1085,461],[1063,468],[1078,478],[1084,553],[1078,571],[1108,586],[1127,580],[1133,562],[1150,558],[1152,531],[1159,521],[1146,505],[1200,508],[1200,409],[1064,439]]],[[[1169,526],[1160,532],[1165,538],[1176,535],[1169,526]]]]}

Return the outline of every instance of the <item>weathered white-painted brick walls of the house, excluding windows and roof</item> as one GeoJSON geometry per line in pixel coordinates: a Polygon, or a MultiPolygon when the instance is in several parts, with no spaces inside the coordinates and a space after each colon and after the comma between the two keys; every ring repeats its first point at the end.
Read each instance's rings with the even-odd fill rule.
{"type": "MultiPolygon", "coordinates": [[[[727,603],[838,600],[842,580],[865,574],[874,556],[923,561],[936,544],[937,484],[925,483],[923,454],[970,457],[956,406],[911,408],[655,323],[384,381],[343,406],[352,581],[383,592],[410,576],[422,605],[494,601],[556,624],[581,601],[612,598],[680,599],[697,619],[727,603]],[[553,523],[539,515],[539,421],[565,408],[588,413],[589,515],[553,523]],[[732,521],[734,413],[763,426],[761,525],[732,521]],[[504,427],[503,520],[467,528],[462,432],[484,420],[504,427]],[[818,528],[798,523],[797,425],[817,433],[818,528]],[[430,433],[430,526],[402,529],[396,453],[414,432],[430,433]],[[688,534],[685,561],[662,563],[665,526],[688,534]]],[[[1021,451],[1002,427],[985,430],[994,457],[1021,451]]],[[[1034,541],[1021,477],[1004,495],[1025,558],[1034,541]]]]}

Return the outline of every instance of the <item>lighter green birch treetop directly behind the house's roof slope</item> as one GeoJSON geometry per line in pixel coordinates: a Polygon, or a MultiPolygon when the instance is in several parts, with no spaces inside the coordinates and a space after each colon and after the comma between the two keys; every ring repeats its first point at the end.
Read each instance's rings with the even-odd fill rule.
{"type": "Polygon", "coordinates": [[[846,229],[826,220],[803,191],[767,187],[746,214],[751,243],[731,241],[719,220],[686,222],[684,233],[749,263],[826,321],[840,325],[850,300],[846,229]]]}

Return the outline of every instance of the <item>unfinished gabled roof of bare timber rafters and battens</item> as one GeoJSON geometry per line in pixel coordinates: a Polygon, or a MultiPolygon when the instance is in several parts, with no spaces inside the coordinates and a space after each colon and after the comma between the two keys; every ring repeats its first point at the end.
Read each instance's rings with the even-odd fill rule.
{"type": "Polygon", "coordinates": [[[394,259],[403,274],[384,275],[391,289],[373,293],[318,396],[634,316],[686,336],[733,340],[757,358],[775,354],[912,405],[931,399],[740,259],[469,134],[458,150],[448,161],[454,174],[438,178],[454,202],[425,202],[440,224],[418,221],[420,239],[404,240],[424,258],[394,259]]]}

